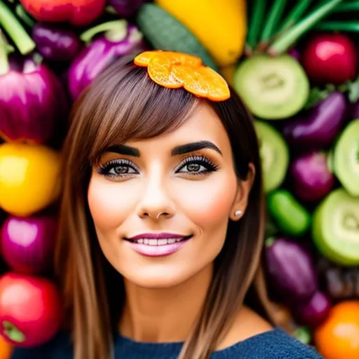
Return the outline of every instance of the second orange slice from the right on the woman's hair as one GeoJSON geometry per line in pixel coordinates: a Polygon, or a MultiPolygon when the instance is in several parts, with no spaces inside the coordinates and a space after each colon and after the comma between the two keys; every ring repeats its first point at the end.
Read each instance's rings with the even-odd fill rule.
{"type": "Polygon", "coordinates": [[[172,67],[172,74],[178,81],[183,81],[185,90],[199,97],[207,97],[208,86],[198,69],[179,65],[172,67]]]}

